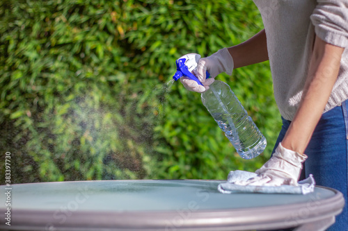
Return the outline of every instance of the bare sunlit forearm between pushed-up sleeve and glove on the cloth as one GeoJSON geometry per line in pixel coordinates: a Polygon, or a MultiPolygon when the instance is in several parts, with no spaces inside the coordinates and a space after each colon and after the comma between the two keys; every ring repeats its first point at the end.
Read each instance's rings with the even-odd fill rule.
{"type": "Polygon", "coordinates": [[[308,77],[299,109],[283,139],[283,147],[303,153],[322,116],[338,77],[340,60],[345,49],[315,38],[308,77]]]}

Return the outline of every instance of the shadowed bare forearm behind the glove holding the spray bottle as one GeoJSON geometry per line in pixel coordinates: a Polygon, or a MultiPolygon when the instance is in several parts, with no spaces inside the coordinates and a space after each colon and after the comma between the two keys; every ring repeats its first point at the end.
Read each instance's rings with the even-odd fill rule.
{"type": "Polygon", "coordinates": [[[244,67],[268,60],[266,33],[264,29],[250,39],[228,48],[235,67],[244,67]]]}

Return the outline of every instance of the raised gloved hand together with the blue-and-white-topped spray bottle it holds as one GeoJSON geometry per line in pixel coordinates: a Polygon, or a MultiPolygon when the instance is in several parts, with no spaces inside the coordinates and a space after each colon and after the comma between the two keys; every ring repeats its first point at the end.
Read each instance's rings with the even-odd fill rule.
{"type": "Polygon", "coordinates": [[[232,74],[233,59],[228,49],[221,49],[207,58],[189,53],[177,59],[176,65],[173,79],[180,79],[191,91],[203,93],[203,105],[235,146],[237,153],[244,159],[260,155],[267,145],[266,139],[230,86],[214,81],[214,77],[223,71],[232,74]]]}

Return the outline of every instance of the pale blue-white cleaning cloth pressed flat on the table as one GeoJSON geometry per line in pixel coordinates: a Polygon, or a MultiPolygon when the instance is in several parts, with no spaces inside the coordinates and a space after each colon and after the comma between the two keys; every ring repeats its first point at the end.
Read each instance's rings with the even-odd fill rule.
{"type": "Polygon", "coordinates": [[[299,181],[298,186],[280,185],[280,186],[255,186],[255,185],[235,185],[237,180],[248,180],[258,176],[249,171],[230,171],[226,183],[221,183],[218,190],[223,194],[233,193],[262,193],[262,194],[309,194],[314,191],[315,180],[310,174],[305,180],[299,181]]]}

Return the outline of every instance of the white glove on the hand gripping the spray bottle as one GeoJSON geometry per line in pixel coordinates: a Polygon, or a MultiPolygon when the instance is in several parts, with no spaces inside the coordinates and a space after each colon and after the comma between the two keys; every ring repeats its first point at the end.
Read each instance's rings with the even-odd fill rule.
{"type": "Polygon", "coordinates": [[[228,52],[227,48],[220,49],[216,53],[212,55],[201,58],[198,61],[198,67],[196,69],[196,77],[200,80],[202,85],[198,85],[195,80],[190,80],[189,78],[182,77],[180,78],[180,82],[186,89],[192,92],[205,92],[209,89],[209,85],[214,83],[214,78],[221,74],[222,72],[226,72],[226,74],[232,74],[233,71],[233,59],[228,52]],[[210,74],[210,78],[206,80],[205,71],[208,71],[210,74]]]}

